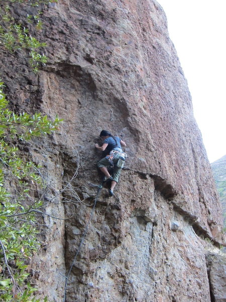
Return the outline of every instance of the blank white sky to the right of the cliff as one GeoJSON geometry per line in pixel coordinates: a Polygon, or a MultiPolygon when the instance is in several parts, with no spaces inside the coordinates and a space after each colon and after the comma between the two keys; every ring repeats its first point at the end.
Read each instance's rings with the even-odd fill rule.
{"type": "Polygon", "coordinates": [[[157,0],[166,13],[210,163],[226,154],[226,0],[157,0]]]}

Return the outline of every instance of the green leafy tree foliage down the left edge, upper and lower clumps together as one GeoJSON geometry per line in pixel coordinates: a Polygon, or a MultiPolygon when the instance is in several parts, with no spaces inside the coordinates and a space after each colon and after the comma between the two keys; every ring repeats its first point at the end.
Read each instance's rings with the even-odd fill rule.
{"type": "MultiPolygon", "coordinates": [[[[47,62],[41,53],[46,46],[39,41],[42,29],[42,7],[56,0],[1,0],[0,47],[21,54],[34,72],[47,62]],[[14,8],[24,8],[23,21],[14,8]],[[33,7],[27,10],[28,6],[33,7]],[[35,33],[34,37],[31,33],[35,33]]],[[[1,82],[1,81],[0,81],[1,82]]],[[[0,83],[0,302],[38,302],[28,282],[27,266],[39,248],[36,213],[42,212],[45,180],[41,167],[22,156],[18,145],[35,136],[58,130],[62,120],[50,121],[40,113],[16,114],[8,109],[8,101],[0,83]],[[38,197],[37,197],[38,196],[38,197]]],[[[47,298],[44,299],[44,302],[47,298]]]]}

